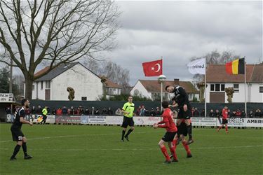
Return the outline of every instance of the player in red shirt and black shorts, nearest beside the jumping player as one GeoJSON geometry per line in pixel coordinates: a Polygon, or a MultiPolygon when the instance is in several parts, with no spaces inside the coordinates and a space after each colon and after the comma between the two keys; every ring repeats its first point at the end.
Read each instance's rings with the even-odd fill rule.
{"type": "Polygon", "coordinates": [[[159,147],[161,148],[161,152],[163,153],[164,157],[166,158],[166,161],[164,163],[170,163],[170,162],[178,162],[177,155],[175,153],[175,146],[173,145],[173,139],[175,137],[175,134],[177,132],[177,127],[175,123],[173,122],[173,113],[168,108],[169,102],[164,101],[162,102],[163,106],[163,120],[159,123],[154,124],[154,129],[158,127],[166,128],[166,134],[163,136],[163,138],[159,141],[159,147]],[[164,125],[161,125],[163,124],[164,125]],[[170,160],[170,156],[167,153],[166,146],[164,145],[166,142],[168,142],[168,146],[170,148],[170,153],[173,155],[173,161],[170,160]]]}

